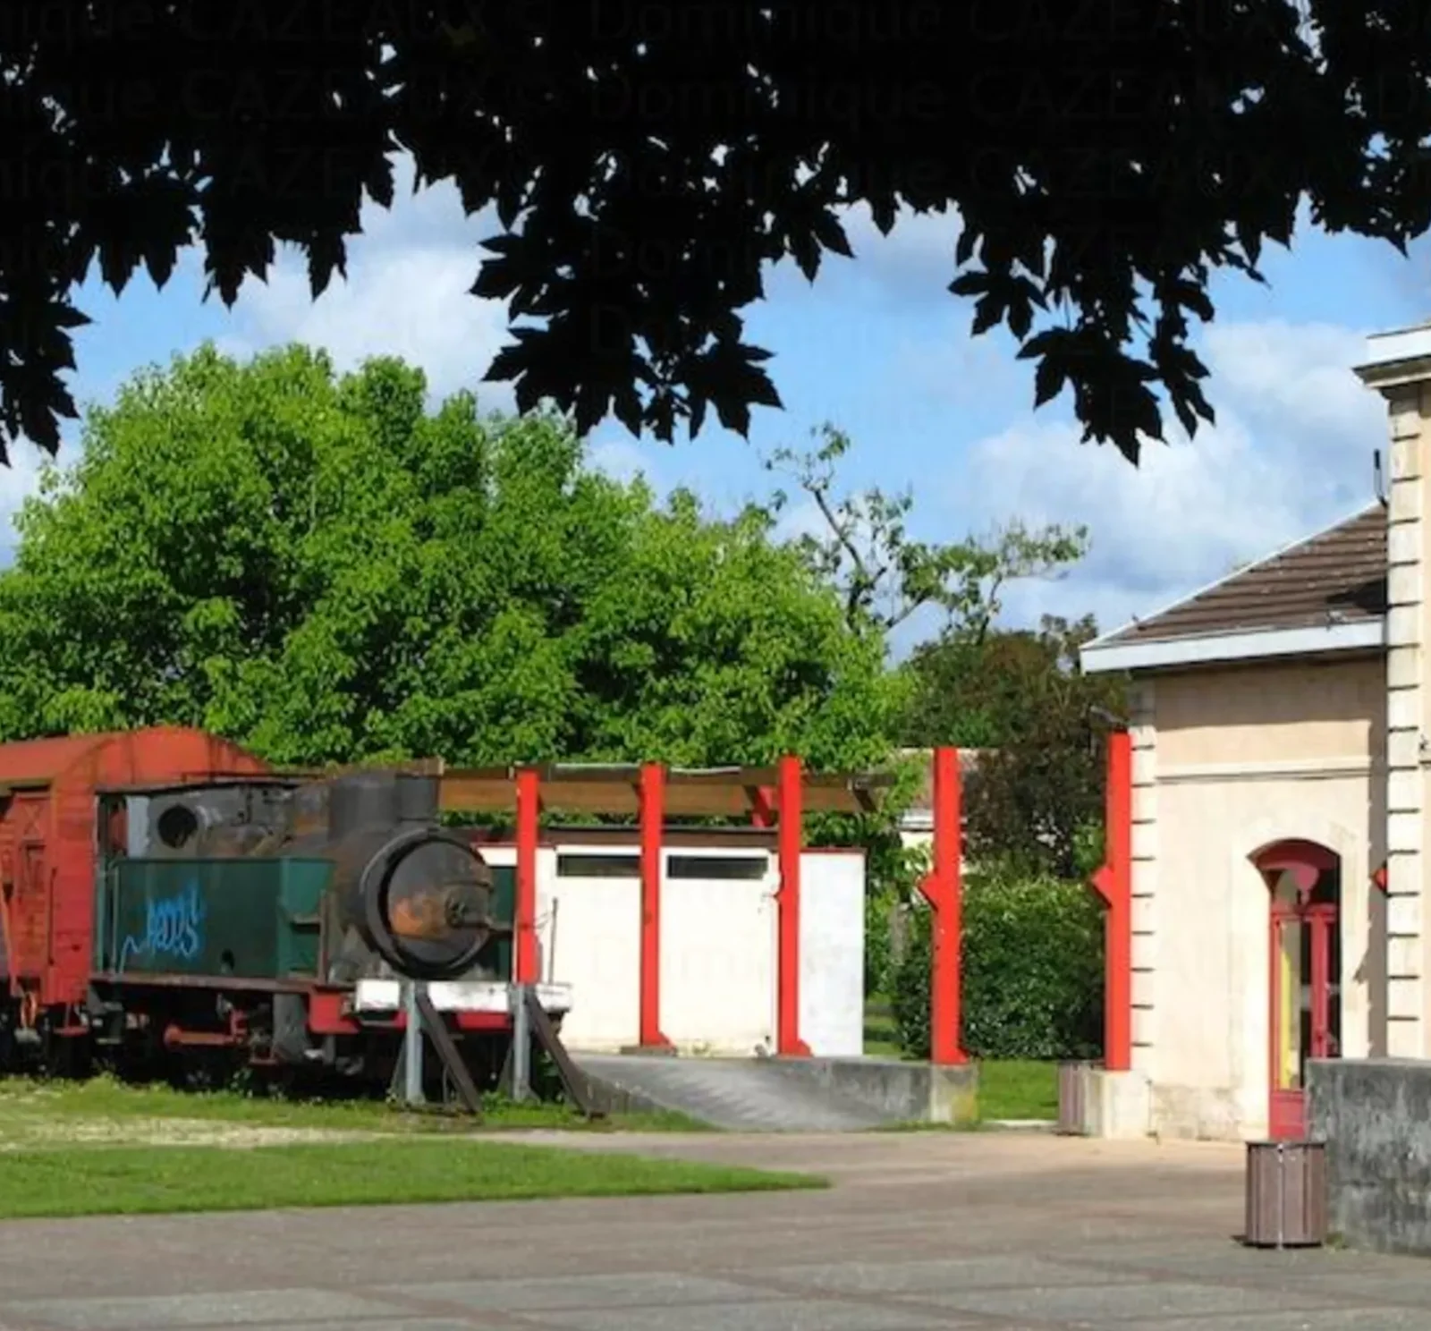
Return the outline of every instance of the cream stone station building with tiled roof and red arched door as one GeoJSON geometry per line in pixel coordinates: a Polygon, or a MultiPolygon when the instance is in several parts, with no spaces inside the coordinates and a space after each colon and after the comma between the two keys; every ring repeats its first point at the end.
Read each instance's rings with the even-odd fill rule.
{"type": "Polygon", "coordinates": [[[1133,681],[1132,1121],[1158,1135],[1295,1136],[1308,1058],[1431,1058],[1431,325],[1355,374],[1387,492],[1083,650],[1133,681]]]}

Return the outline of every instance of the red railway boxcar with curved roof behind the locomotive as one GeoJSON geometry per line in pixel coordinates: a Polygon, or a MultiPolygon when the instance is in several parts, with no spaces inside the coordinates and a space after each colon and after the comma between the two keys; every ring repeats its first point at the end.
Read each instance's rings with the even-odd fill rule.
{"type": "Polygon", "coordinates": [[[0,977],[20,1030],[47,1013],[54,1035],[87,1033],[96,790],[266,771],[228,740],[177,726],[0,744],[0,977]]]}

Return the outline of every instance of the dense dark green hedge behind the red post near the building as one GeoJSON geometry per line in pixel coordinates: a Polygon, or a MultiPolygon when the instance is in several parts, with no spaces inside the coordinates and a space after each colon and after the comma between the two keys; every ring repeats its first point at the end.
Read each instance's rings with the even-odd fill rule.
{"type": "MultiPolygon", "coordinates": [[[[900,1046],[929,1058],[929,922],[893,976],[900,1046]]],[[[967,874],[963,1043],[976,1058],[1083,1059],[1103,1046],[1103,912],[1082,883],[967,874]]]]}

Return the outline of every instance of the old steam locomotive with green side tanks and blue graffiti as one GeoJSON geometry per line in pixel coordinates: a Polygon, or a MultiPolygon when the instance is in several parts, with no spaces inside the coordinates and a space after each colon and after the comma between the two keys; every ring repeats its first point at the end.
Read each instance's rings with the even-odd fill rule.
{"type": "MultiPolygon", "coordinates": [[[[50,919],[27,910],[23,879],[4,903],[0,973],[16,1002],[0,1008],[0,1071],[99,1059],[386,1082],[404,1023],[355,1002],[365,982],[504,992],[511,870],[444,830],[436,777],[223,776],[92,799],[89,927],[57,927],[53,892],[50,919]],[[17,983],[24,957],[47,946],[53,963],[69,940],[89,949],[83,999],[41,1006],[17,983]]],[[[504,1003],[451,1023],[478,1069],[509,1029],[504,1003]]]]}

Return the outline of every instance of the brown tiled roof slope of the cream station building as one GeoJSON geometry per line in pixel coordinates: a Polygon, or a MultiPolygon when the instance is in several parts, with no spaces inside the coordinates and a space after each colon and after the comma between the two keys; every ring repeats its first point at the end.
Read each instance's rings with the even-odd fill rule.
{"type": "Polygon", "coordinates": [[[1152,643],[1262,628],[1377,620],[1387,611],[1387,511],[1381,504],[1244,568],[1106,643],[1152,643]]]}

